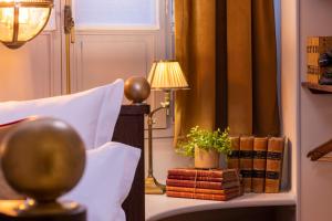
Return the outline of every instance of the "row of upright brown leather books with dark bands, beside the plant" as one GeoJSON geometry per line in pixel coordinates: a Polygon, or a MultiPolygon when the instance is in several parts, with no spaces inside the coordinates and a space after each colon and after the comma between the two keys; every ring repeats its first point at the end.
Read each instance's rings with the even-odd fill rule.
{"type": "Polygon", "coordinates": [[[243,177],[245,192],[280,191],[284,137],[231,137],[228,168],[243,177]]]}

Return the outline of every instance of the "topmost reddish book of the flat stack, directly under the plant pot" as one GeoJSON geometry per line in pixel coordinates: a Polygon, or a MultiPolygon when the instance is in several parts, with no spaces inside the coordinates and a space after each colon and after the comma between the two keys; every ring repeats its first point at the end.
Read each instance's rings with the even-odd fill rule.
{"type": "Polygon", "coordinates": [[[169,169],[168,176],[186,176],[186,177],[211,177],[229,179],[237,176],[236,169],[194,169],[194,168],[176,168],[169,169]]]}

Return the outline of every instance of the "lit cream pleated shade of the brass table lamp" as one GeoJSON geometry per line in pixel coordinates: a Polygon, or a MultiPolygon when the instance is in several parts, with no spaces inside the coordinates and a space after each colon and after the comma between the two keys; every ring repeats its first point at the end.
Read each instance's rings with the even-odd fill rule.
{"type": "Polygon", "coordinates": [[[153,90],[186,90],[189,87],[183,70],[176,61],[154,62],[148,83],[153,90]]]}

